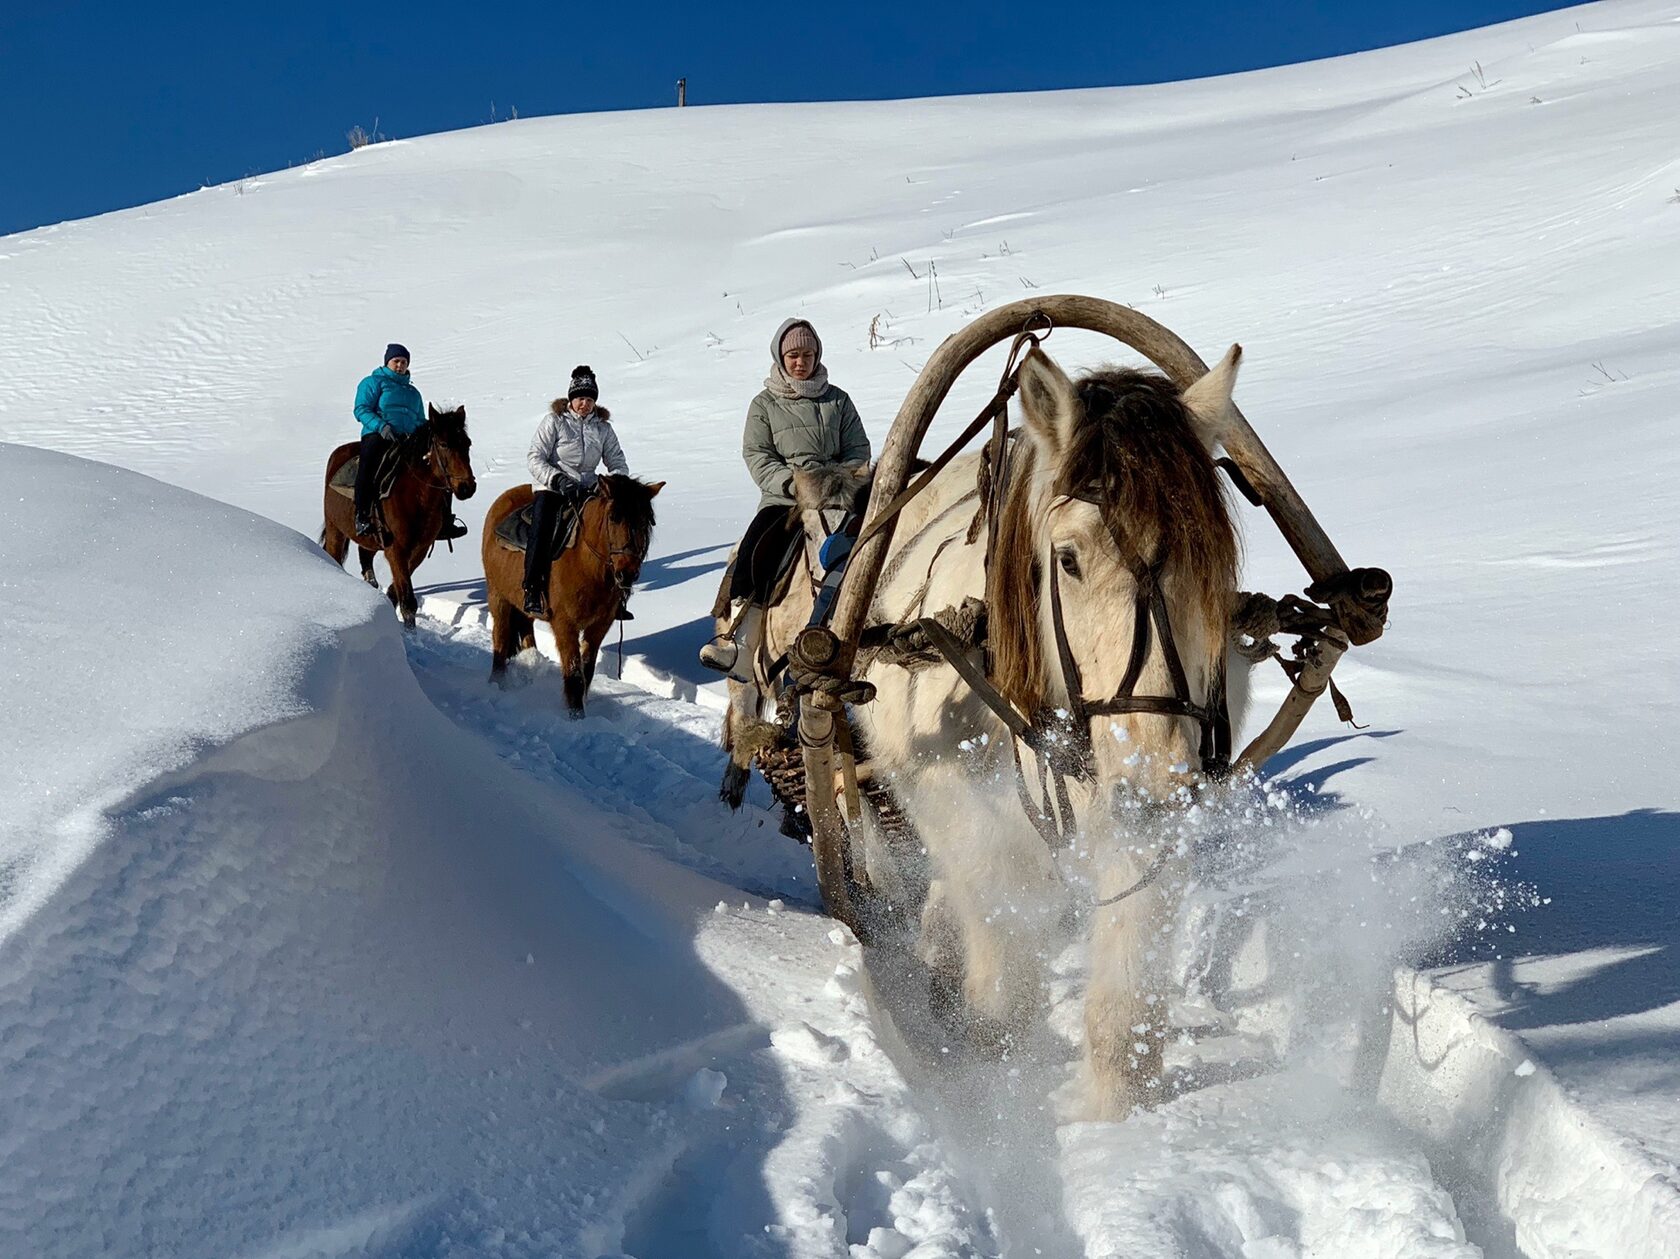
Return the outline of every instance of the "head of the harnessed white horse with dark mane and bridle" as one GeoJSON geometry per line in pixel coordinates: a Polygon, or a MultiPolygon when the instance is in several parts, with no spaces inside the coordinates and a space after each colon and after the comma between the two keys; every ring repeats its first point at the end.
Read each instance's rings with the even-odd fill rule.
{"type": "Polygon", "coordinates": [[[988,573],[993,671],[1025,713],[1072,723],[1099,807],[1163,800],[1201,768],[1205,724],[1171,706],[1220,703],[1238,540],[1205,434],[1235,375],[1235,348],[1183,393],[1121,368],[1074,382],[1037,348],[1021,363],[1025,440],[988,573]]]}

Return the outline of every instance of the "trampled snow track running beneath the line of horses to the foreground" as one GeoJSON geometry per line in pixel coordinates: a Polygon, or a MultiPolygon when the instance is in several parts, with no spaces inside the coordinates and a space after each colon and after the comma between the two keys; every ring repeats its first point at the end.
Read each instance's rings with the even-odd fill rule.
{"type": "MultiPolygon", "coordinates": [[[[509,765],[633,819],[638,842],[674,861],[801,906],[731,899],[702,928],[759,1022],[595,1083],[669,1099],[674,1116],[669,1162],[633,1187],[622,1254],[1520,1259],[1488,1204],[1440,1183],[1416,1141],[1307,1066],[1122,1125],[1058,1125],[1065,1044],[966,1059],[941,1044],[909,968],[884,955],[862,973],[855,946],[808,913],[808,851],[768,810],[717,803],[716,714],[603,677],[573,721],[546,659],[522,657],[507,691],[491,686],[479,627],[423,619],[408,656],[433,703],[509,765]],[[754,1098],[778,1088],[798,1113],[756,1114],[754,1098]],[[751,1217],[766,1185],[768,1230],[751,1217]]],[[[1065,1004],[1077,958],[1062,968],[1065,1004]]]]}

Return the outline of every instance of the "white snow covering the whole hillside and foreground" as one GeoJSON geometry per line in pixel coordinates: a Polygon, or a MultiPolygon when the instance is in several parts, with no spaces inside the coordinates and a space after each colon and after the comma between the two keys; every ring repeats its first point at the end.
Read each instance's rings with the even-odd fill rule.
{"type": "MultiPolygon", "coordinates": [[[[0,1252],[1680,1251],[1677,55],[1680,3],[1626,0],[1158,87],[522,119],[8,237],[0,1252]],[[1121,1125],[1057,1118],[1079,951],[1037,1054],[942,1044],[761,788],[717,805],[692,659],[766,329],[811,318],[879,442],[1033,291],[1240,340],[1396,580],[1339,671],[1369,728],[1314,713],[1186,906],[1201,1086],[1121,1125]],[[405,637],[311,541],[393,338],[486,486],[585,361],[669,479],[581,723],[543,659],[486,684],[475,546],[405,637]]],[[[1300,583],[1257,518],[1247,577],[1300,583]]]]}

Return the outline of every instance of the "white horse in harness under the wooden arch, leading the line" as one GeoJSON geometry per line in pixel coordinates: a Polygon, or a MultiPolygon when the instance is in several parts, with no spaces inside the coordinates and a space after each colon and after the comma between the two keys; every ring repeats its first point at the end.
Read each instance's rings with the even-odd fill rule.
{"type": "MultiPolygon", "coordinates": [[[[1025,430],[998,519],[969,529],[981,506],[981,456],[953,461],[899,518],[869,615],[904,624],[984,598],[993,686],[1040,724],[1057,709],[1084,724],[1062,731],[1084,763],[1058,790],[1057,770],[1067,765],[1052,765],[1053,756],[1040,765],[948,664],[912,672],[877,661],[862,674],[875,699],[853,711],[872,772],[885,777],[927,851],[921,953],[936,980],[961,992],[976,1025],[1018,1034],[1042,1010],[1043,928],[1067,896],[1043,830],[1077,827],[1077,854],[1092,872],[1085,894],[1099,904],[1146,881],[1090,918],[1079,1108],[1090,1118],[1119,1118],[1159,1096],[1168,1014],[1156,950],[1174,879],[1163,867],[1166,849],[1151,847],[1147,825],[1139,827],[1149,810],[1137,805],[1193,790],[1205,750],[1200,719],[1159,711],[1173,704],[1126,711],[1105,701],[1129,672],[1142,708],[1174,698],[1211,709],[1220,699],[1238,540],[1210,447],[1238,358],[1233,346],[1181,393],[1137,371],[1072,382],[1032,350],[1020,368],[1025,430]],[[1151,610],[1149,587],[1161,610],[1151,610]],[[1134,662],[1139,634],[1146,651],[1134,662]],[[1015,756],[1030,809],[1016,798],[1015,756]]],[[[1245,667],[1233,657],[1233,721],[1245,667]]]]}

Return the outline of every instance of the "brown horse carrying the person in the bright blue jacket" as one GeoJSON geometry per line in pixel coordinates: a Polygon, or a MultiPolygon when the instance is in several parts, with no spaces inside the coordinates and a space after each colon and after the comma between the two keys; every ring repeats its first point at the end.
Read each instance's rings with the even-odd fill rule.
{"type": "Polygon", "coordinates": [[[396,607],[403,625],[413,629],[415,602],[413,572],[432,551],[437,535],[449,521],[449,496],[472,498],[479,482],[472,476],[467,450],[467,408],[438,410],[427,405],[427,422],[403,439],[398,452],[402,461],[391,493],[380,504],[385,516],[385,538],[360,536],[354,526],[354,506],[344,494],[333,489],[333,477],[346,461],[361,452],[358,442],[338,447],[326,461],[326,491],[321,526],[321,545],[338,563],[344,563],[349,543],[361,551],[361,578],[375,590],[373,556],[385,551],[391,566],[391,587],[386,597],[396,607]]]}

